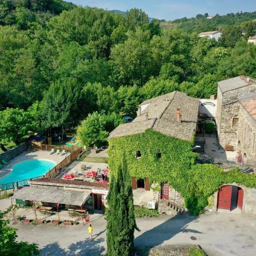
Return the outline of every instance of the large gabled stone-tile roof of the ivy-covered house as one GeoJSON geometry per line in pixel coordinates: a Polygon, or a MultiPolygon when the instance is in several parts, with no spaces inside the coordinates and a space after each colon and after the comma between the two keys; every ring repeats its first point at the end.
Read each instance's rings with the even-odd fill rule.
{"type": "Polygon", "coordinates": [[[131,123],[119,125],[108,139],[143,133],[152,128],[162,134],[183,140],[191,140],[197,123],[199,100],[186,93],[174,91],[148,99],[140,104],[141,115],[131,123]],[[157,110],[156,110],[157,105],[157,110]],[[177,120],[176,110],[180,109],[181,120],[177,120]],[[148,113],[148,120],[146,120],[148,113]]]}

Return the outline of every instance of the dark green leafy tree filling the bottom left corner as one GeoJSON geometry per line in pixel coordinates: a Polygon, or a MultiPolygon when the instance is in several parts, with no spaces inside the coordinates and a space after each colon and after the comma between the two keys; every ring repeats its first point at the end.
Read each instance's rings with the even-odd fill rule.
{"type": "Polygon", "coordinates": [[[1,256],[39,256],[37,244],[27,242],[18,242],[16,228],[9,227],[10,221],[3,219],[3,213],[0,212],[0,255],[1,256]]]}

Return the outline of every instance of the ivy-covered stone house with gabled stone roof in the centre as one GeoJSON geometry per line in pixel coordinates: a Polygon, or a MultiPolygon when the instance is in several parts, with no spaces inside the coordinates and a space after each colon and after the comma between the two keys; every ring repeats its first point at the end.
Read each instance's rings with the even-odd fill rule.
{"type": "Polygon", "coordinates": [[[175,189],[169,186],[165,177],[170,169],[173,168],[174,172],[177,171],[175,166],[169,166],[168,156],[174,152],[174,146],[171,145],[172,142],[169,138],[188,142],[186,150],[191,151],[197,125],[199,103],[198,99],[189,97],[179,91],[148,99],[138,106],[137,117],[132,122],[119,125],[111,132],[108,137],[110,143],[108,165],[110,169],[116,167],[111,165],[114,158],[116,158],[116,153],[119,150],[125,150],[126,154],[132,155],[127,160],[128,169],[131,167],[138,173],[139,170],[145,170],[145,175],[148,175],[138,177],[140,175],[138,174],[133,177],[131,174],[134,205],[146,207],[148,202],[155,202],[158,204],[159,211],[167,214],[182,208],[184,199],[175,189]],[[159,133],[166,138],[166,145],[159,140],[159,133]],[[148,134],[150,141],[147,140],[148,134]],[[140,143],[137,143],[137,135],[141,135],[140,143]],[[121,141],[123,137],[132,142],[125,149],[119,148],[119,145],[123,145],[121,141]],[[134,162],[131,163],[131,161],[134,162]],[[150,166],[154,166],[159,172],[163,172],[161,184],[153,183],[150,185],[150,181],[155,180],[150,166]],[[155,190],[156,186],[160,186],[160,190],[155,190]]]}

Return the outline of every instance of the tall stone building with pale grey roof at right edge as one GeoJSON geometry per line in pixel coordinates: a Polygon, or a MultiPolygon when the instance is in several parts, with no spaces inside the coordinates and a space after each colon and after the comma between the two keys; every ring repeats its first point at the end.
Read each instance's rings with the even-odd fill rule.
{"type": "MultiPolygon", "coordinates": [[[[245,76],[237,76],[218,82],[216,124],[219,148],[232,145],[235,150],[241,149],[239,134],[240,136],[243,134],[244,125],[241,120],[239,122],[242,106],[239,98],[242,99],[255,91],[256,81],[245,76]]],[[[251,118],[248,112],[247,116],[251,118]]],[[[251,128],[253,129],[253,127],[251,128]]]]}

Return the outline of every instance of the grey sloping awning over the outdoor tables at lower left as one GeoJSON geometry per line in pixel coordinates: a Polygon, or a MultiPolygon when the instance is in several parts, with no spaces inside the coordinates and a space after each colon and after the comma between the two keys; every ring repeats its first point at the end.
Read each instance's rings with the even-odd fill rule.
{"type": "Polygon", "coordinates": [[[45,189],[23,187],[14,192],[12,198],[46,203],[72,204],[81,206],[90,197],[90,192],[70,189],[45,189]]]}

